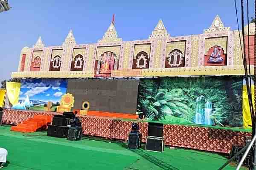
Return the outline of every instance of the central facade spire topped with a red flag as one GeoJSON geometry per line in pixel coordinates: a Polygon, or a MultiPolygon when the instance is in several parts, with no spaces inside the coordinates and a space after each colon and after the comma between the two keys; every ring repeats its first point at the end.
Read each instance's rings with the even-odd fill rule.
{"type": "Polygon", "coordinates": [[[115,17],[113,15],[113,18],[112,18],[110,26],[108,27],[108,30],[105,32],[102,40],[99,40],[98,42],[122,41],[122,38],[117,37],[117,32],[116,32],[114,23],[115,23],[115,17]]]}

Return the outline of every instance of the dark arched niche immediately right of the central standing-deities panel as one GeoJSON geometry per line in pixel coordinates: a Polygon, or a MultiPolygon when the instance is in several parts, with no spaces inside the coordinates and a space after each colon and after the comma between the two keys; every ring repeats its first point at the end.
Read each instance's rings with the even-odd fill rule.
{"type": "Polygon", "coordinates": [[[145,51],[140,51],[136,57],[133,59],[132,68],[133,69],[141,69],[149,67],[149,57],[148,53],[145,51]]]}

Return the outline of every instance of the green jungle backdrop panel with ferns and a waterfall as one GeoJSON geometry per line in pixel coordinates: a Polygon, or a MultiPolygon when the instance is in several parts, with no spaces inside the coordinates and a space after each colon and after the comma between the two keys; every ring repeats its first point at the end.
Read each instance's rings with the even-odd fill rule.
{"type": "Polygon", "coordinates": [[[137,111],[161,122],[243,126],[242,77],[140,79],[137,111]]]}

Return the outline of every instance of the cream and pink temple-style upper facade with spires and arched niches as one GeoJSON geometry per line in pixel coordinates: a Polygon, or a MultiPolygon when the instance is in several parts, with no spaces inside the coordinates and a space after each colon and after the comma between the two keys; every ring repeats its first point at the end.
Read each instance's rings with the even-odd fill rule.
{"type": "MultiPolygon", "coordinates": [[[[253,48],[254,24],[249,27],[249,32],[245,28],[245,45],[253,48]]],[[[39,37],[32,48],[22,49],[12,77],[243,75],[241,54],[239,31],[224,27],[218,15],[203,34],[170,37],[160,20],[147,40],[134,41],[118,38],[112,22],[102,40],[93,44],[77,44],[71,30],[58,46],[45,47],[39,37]]],[[[251,64],[253,55],[251,50],[251,64]]]]}

